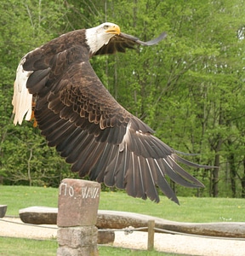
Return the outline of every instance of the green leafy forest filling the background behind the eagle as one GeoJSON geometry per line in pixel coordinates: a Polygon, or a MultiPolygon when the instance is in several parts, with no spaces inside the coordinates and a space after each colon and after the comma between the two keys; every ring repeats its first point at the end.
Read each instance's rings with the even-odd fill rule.
{"type": "Polygon", "coordinates": [[[3,0],[0,9],[0,183],[58,187],[77,177],[30,122],[13,125],[20,58],[65,32],[117,23],[153,47],[98,56],[92,65],[111,94],[189,160],[205,189],[179,195],[245,197],[245,1],[3,0]]]}

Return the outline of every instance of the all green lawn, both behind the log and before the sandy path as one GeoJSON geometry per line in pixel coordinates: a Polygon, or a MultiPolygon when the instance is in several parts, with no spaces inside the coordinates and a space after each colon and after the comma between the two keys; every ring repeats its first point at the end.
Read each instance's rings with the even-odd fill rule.
{"type": "MultiPolygon", "coordinates": [[[[19,209],[32,206],[57,207],[58,189],[24,186],[0,186],[0,204],[8,205],[6,215],[19,216],[19,209]]],[[[138,212],[183,222],[245,222],[243,199],[180,197],[180,206],[164,196],[159,204],[132,198],[124,192],[102,192],[100,209],[138,212]]],[[[0,237],[0,255],[56,255],[55,240],[37,241],[0,237]],[[14,247],[13,247],[14,244],[14,247]]],[[[177,255],[99,247],[100,255],[177,255]]]]}

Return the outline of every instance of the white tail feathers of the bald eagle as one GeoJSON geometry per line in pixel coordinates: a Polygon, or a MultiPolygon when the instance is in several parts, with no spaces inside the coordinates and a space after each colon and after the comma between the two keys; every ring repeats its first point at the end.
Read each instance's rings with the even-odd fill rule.
{"type": "Polygon", "coordinates": [[[25,61],[25,57],[20,61],[14,81],[14,96],[12,100],[12,105],[14,106],[13,113],[15,114],[14,125],[17,125],[17,123],[21,125],[25,115],[26,120],[31,119],[32,95],[26,88],[26,82],[32,71],[25,71],[23,69],[25,61]]]}

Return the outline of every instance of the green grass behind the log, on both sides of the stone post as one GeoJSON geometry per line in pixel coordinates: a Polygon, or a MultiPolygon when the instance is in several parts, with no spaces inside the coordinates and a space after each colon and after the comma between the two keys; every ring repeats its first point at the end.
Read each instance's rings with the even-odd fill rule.
{"type": "MultiPolygon", "coordinates": [[[[58,189],[0,186],[0,204],[8,205],[7,215],[32,206],[57,207],[58,189]]],[[[160,203],[133,198],[124,192],[102,192],[100,209],[138,212],[182,222],[245,222],[244,199],[180,197],[180,206],[161,196],[160,203]]]]}

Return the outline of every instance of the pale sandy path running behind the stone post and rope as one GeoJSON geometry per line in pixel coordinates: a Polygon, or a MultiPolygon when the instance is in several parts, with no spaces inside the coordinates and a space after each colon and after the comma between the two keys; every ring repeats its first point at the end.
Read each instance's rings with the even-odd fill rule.
{"type": "MultiPolygon", "coordinates": [[[[25,237],[32,239],[49,239],[56,237],[55,225],[23,224],[20,218],[0,218],[0,236],[25,237]]],[[[125,235],[123,231],[115,232],[115,247],[147,249],[147,233],[134,231],[125,235]]],[[[200,256],[245,256],[245,241],[230,239],[200,238],[155,234],[154,248],[168,253],[182,253],[200,256]]]]}

